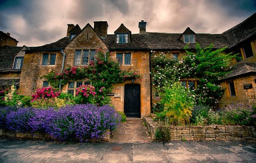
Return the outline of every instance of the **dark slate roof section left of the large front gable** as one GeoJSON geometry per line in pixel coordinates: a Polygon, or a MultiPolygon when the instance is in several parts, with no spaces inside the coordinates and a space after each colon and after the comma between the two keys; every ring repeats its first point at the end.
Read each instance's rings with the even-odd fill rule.
{"type": "Polygon", "coordinates": [[[31,51],[60,51],[61,49],[64,49],[69,43],[69,38],[68,37],[63,37],[62,39],[49,43],[43,46],[38,46],[38,47],[29,47],[26,49],[26,52],[31,52],[31,51]]]}

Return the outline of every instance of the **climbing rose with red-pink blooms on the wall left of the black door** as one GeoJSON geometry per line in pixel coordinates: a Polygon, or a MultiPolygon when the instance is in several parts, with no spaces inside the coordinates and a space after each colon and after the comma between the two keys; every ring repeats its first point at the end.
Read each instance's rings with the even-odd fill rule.
{"type": "Polygon", "coordinates": [[[86,79],[95,87],[95,103],[104,105],[110,102],[107,93],[111,92],[114,84],[122,83],[127,79],[137,79],[140,75],[134,71],[122,70],[120,63],[112,59],[109,53],[105,54],[97,50],[95,60],[91,60],[88,66],[67,67],[63,73],[52,71],[43,77],[47,78],[49,84],[54,87],[59,87],[60,80],[61,86],[64,86],[71,80],[86,79]],[[104,87],[103,91],[101,91],[102,87],[104,87]]]}

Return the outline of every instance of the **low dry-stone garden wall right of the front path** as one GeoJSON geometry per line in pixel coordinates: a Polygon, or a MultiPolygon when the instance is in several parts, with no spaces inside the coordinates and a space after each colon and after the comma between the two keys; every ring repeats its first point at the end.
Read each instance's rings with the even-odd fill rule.
{"type": "Polygon", "coordinates": [[[255,126],[159,126],[144,117],[148,133],[155,139],[157,129],[167,128],[170,140],[255,140],[255,126]]]}

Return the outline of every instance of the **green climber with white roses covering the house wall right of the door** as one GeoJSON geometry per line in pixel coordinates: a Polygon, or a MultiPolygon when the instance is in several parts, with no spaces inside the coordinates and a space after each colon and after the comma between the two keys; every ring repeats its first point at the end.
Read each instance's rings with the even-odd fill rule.
{"type": "Polygon", "coordinates": [[[195,78],[197,89],[196,102],[216,106],[223,95],[218,79],[226,76],[235,55],[225,54],[226,48],[214,50],[213,45],[201,48],[196,43],[195,51],[185,46],[186,56],[181,60],[173,60],[167,54],[155,54],[153,58],[153,85],[159,92],[164,92],[165,85],[178,82],[180,79],[195,78]]]}

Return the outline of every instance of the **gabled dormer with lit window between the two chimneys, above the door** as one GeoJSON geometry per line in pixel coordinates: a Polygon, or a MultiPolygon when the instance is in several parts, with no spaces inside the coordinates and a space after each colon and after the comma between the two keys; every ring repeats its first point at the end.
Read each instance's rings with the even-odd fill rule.
{"type": "Polygon", "coordinates": [[[127,29],[123,23],[120,25],[118,29],[116,29],[115,33],[115,43],[130,43],[130,37],[132,36],[132,32],[127,29]]]}

